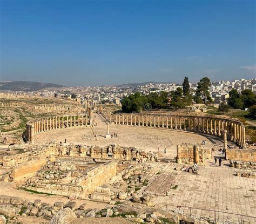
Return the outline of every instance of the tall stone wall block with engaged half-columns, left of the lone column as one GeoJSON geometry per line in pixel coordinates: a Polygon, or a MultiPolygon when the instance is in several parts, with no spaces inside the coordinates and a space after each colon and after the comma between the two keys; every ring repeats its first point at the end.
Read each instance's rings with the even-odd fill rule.
{"type": "Polygon", "coordinates": [[[211,158],[211,150],[200,145],[177,145],[176,162],[178,164],[205,164],[211,158]]]}

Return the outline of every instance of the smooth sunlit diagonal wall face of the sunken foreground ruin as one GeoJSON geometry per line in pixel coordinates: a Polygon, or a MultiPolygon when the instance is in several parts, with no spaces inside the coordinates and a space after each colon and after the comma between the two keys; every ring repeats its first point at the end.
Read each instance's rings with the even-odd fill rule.
{"type": "Polygon", "coordinates": [[[86,193],[92,193],[97,187],[110,181],[117,174],[117,162],[110,161],[106,164],[93,167],[86,172],[86,177],[83,185],[86,187],[86,193]]]}

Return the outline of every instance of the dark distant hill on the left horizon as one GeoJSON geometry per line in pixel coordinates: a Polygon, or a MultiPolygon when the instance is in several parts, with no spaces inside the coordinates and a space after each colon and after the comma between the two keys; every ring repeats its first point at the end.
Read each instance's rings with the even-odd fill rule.
{"type": "Polygon", "coordinates": [[[9,90],[9,91],[37,91],[45,88],[60,88],[65,87],[62,85],[52,84],[52,83],[39,83],[39,82],[5,82],[5,84],[0,85],[0,90],[9,90]]]}

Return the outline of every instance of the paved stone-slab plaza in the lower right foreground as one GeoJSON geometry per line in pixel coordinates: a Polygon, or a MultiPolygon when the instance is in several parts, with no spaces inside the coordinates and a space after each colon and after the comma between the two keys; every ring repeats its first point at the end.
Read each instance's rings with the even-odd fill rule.
{"type": "MultiPolygon", "coordinates": [[[[175,209],[175,206],[187,206],[200,209],[209,209],[221,212],[255,216],[256,213],[256,181],[252,178],[242,178],[234,175],[234,169],[218,165],[200,166],[199,175],[184,171],[175,171],[176,165],[170,165],[165,172],[176,175],[176,189],[171,194],[157,198],[159,207],[175,209]]],[[[190,213],[187,208],[181,210],[190,213]]],[[[201,217],[214,218],[213,212],[192,209],[192,214],[201,217]]],[[[238,223],[240,216],[217,213],[220,220],[238,223]]],[[[255,223],[256,220],[242,217],[246,223],[255,223]]],[[[239,220],[240,221],[240,220],[239,220]]]]}

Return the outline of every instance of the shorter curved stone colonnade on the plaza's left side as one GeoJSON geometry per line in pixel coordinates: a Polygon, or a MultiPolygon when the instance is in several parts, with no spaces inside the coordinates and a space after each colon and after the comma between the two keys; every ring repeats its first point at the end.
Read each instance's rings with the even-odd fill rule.
{"type": "Polygon", "coordinates": [[[40,132],[77,126],[87,127],[88,125],[93,125],[93,119],[87,116],[87,114],[54,116],[30,120],[26,123],[26,142],[33,144],[35,134],[40,132]]]}

